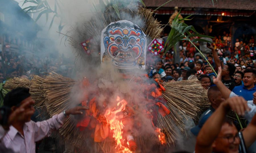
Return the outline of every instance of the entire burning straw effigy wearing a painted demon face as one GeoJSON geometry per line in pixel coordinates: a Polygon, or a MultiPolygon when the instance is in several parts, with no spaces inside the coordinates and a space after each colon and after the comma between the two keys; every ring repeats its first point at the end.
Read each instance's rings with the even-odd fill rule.
{"type": "Polygon", "coordinates": [[[175,143],[174,127],[185,132],[184,119],[197,120],[209,104],[197,79],[161,85],[138,73],[146,69],[146,58],[163,48],[156,40],[162,30],[151,10],[132,3],[108,4],[76,26],[68,39],[91,78],[78,81],[52,72],[44,77],[15,77],[4,87],[30,88],[35,107],[44,116],[74,105],[88,106],[82,116],[69,117],[59,130],[78,152],[164,152],[162,147],[175,143]],[[148,51],[149,45],[154,52],[148,51]]]}

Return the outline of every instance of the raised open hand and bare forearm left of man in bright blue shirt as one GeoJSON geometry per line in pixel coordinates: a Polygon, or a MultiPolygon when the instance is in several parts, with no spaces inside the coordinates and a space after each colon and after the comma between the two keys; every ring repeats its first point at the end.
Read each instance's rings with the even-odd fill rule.
{"type": "Polygon", "coordinates": [[[213,83],[219,88],[223,98],[228,99],[231,91],[221,82],[221,67],[218,67],[218,76],[213,77],[213,83]]]}

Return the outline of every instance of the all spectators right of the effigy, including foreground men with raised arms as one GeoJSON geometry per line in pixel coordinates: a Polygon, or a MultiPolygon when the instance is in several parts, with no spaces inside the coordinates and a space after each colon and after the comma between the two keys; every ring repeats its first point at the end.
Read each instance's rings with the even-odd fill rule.
{"type": "MultiPolygon", "coordinates": [[[[196,152],[256,151],[254,36],[248,41],[236,39],[234,44],[231,40],[232,35],[224,32],[222,36],[215,36],[214,43],[207,43],[210,52],[204,54],[208,61],[194,46],[183,41],[179,48],[180,64],[174,63],[172,50],[166,55],[160,54],[154,64],[149,64],[154,66],[147,68],[153,79],[173,82],[197,78],[208,90],[211,106],[201,114],[196,127],[191,128],[197,136],[196,152]],[[243,125],[239,126],[238,121],[233,123],[226,118],[230,109],[244,118],[248,124],[244,130],[240,130],[243,125]]],[[[203,49],[199,43],[195,45],[203,49]]]]}

